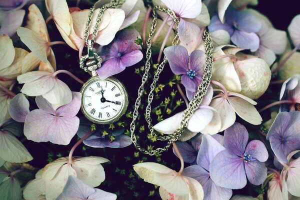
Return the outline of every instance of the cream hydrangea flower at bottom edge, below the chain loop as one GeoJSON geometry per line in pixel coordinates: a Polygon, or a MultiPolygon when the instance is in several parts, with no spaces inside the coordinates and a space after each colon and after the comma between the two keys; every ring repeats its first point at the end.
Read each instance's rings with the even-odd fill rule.
{"type": "Polygon", "coordinates": [[[162,164],[141,162],[134,164],[133,169],[144,181],[159,186],[162,200],[203,199],[203,189],[198,181],[162,164]]]}

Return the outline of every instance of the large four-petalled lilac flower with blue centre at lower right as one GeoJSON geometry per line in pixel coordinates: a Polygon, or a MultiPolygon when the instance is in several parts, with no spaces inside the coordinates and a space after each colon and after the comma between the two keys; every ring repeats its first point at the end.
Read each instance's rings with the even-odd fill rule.
{"type": "Polygon", "coordinates": [[[224,132],[224,146],[210,163],[211,179],[222,187],[243,188],[247,183],[259,185],[266,178],[264,161],[268,158],[264,144],[255,139],[247,144],[248,132],[240,123],[234,123],[224,132]]]}

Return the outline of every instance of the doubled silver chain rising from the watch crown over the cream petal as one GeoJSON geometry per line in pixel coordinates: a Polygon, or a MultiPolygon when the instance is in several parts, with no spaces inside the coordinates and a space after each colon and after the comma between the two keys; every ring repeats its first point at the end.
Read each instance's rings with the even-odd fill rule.
{"type": "MultiPolygon", "coordinates": [[[[98,15],[97,15],[97,18],[96,18],[96,23],[95,23],[95,26],[92,30],[92,38],[91,38],[91,44],[93,44],[95,42],[95,38],[97,36],[97,32],[98,32],[98,28],[99,28],[99,23],[101,22],[102,20],[102,15],[104,13],[104,11],[107,9],[107,8],[114,8],[118,5],[121,5],[123,3],[123,0],[112,0],[110,3],[108,4],[105,4],[103,5],[101,8],[99,8],[99,12],[98,12],[98,15]]],[[[91,18],[92,18],[92,15],[94,13],[94,9],[95,7],[92,6],[91,8],[89,8],[89,12],[88,12],[88,17],[87,17],[87,21],[86,21],[86,24],[85,24],[85,29],[84,29],[84,40],[85,40],[85,43],[87,45],[87,39],[88,39],[88,35],[89,35],[89,26],[91,24],[91,18]]]]}

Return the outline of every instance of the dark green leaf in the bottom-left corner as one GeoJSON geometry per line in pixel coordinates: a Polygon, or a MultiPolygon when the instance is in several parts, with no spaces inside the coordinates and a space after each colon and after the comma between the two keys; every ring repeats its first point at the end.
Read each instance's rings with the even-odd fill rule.
{"type": "Polygon", "coordinates": [[[21,187],[18,180],[9,177],[0,183],[1,200],[20,200],[22,198],[21,187]]]}

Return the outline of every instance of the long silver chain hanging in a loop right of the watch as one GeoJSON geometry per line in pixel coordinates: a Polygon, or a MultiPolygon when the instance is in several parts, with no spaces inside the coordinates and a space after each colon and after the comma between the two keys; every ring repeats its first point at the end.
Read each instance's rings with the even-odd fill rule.
{"type": "MultiPolygon", "coordinates": [[[[148,80],[148,73],[150,70],[150,59],[151,59],[151,45],[152,45],[152,37],[154,35],[155,32],[155,27],[156,27],[156,22],[157,22],[157,14],[155,10],[159,10],[159,11],[163,11],[165,13],[167,13],[169,16],[172,17],[172,19],[174,20],[174,22],[176,23],[176,29],[175,29],[175,37],[173,39],[172,44],[176,45],[178,42],[178,33],[177,33],[177,27],[178,27],[178,23],[179,23],[179,18],[175,15],[175,13],[172,10],[169,10],[167,8],[161,8],[159,6],[154,6],[153,10],[152,10],[152,22],[151,22],[151,28],[150,28],[150,32],[149,32],[149,36],[148,39],[146,40],[146,63],[145,63],[145,71],[144,74],[142,76],[141,79],[141,85],[138,88],[138,92],[137,92],[137,98],[135,101],[135,106],[134,106],[134,110],[132,113],[132,121],[130,123],[130,132],[131,132],[131,140],[133,142],[133,144],[135,145],[135,147],[140,150],[142,153],[145,154],[149,154],[149,155],[154,155],[156,153],[161,153],[165,150],[167,150],[171,143],[174,141],[177,141],[178,138],[180,137],[180,135],[182,134],[182,132],[185,130],[188,120],[190,119],[190,117],[192,116],[193,112],[198,108],[199,104],[202,101],[202,98],[204,96],[204,94],[207,91],[207,88],[210,84],[210,78],[211,78],[211,73],[212,73],[212,51],[213,51],[213,47],[212,47],[212,41],[211,41],[211,37],[210,37],[210,33],[205,30],[203,32],[202,35],[202,39],[204,41],[204,47],[205,47],[205,53],[206,53],[206,57],[205,57],[205,66],[204,66],[204,71],[203,71],[203,76],[202,76],[202,81],[200,83],[200,85],[197,88],[197,92],[195,93],[194,97],[191,99],[191,101],[188,104],[188,107],[184,110],[183,112],[183,116],[182,119],[180,121],[180,125],[179,128],[177,130],[175,130],[172,134],[167,135],[167,136],[158,136],[157,139],[158,140],[165,140],[167,141],[167,144],[160,148],[156,148],[156,149],[152,149],[152,150],[147,150],[145,148],[142,148],[138,142],[137,142],[137,138],[136,135],[134,133],[135,131],[135,121],[136,118],[138,116],[138,108],[140,106],[140,101],[141,101],[141,96],[144,92],[144,85],[148,80]]],[[[147,99],[147,106],[146,106],[146,113],[145,113],[145,119],[148,123],[148,128],[150,130],[150,134],[152,137],[155,136],[155,132],[153,129],[153,125],[151,124],[151,102],[153,100],[153,91],[155,89],[155,84],[159,78],[159,75],[165,65],[165,63],[167,62],[166,57],[163,57],[163,61],[158,65],[156,73],[154,74],[153,77],[153,82],[150,85],[150,91],[148,94],[148,99],[147,99]]]]}

